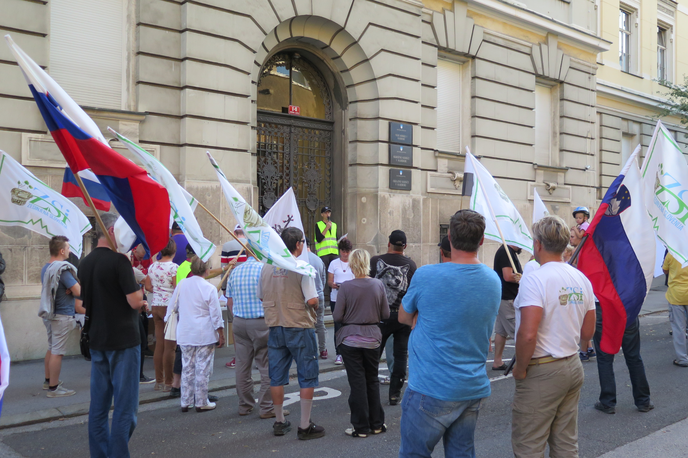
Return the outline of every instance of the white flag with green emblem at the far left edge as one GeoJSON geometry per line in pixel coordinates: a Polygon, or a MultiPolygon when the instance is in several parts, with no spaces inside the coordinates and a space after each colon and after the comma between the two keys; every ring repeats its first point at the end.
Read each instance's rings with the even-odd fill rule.
{"type": "Polygon", "coordinates": [[[0,151],[0,225],[19,226],[52,238],[64,235],[81,257],[88,218],[69,199],[53,190],[0,151]]]}

